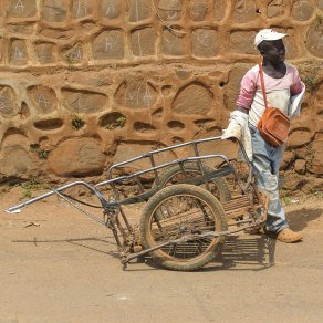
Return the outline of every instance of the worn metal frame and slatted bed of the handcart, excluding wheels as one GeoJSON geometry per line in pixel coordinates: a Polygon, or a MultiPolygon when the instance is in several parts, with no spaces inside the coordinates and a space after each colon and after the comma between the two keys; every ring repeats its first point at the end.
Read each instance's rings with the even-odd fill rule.
{"type": "MultiPolygon", "coordinates": [[[[267,201],[262,198],[261,194],[257,189],[257,186],[254,185],[252,167],[251,167],[250,162],[247,158],[247,154],[242,145],[238,142],[246,157],[246,163],[248,166],[248,176],[247,176],[247,179],[243,181],[240,178],[235,166],[227,158],[227,156],[221,155],[221,154],[209,154],[209,155],[200,154],[200,150],[199,150],[200,144],[208,143],[208,142],[216,143],[217,140],[220,140],[220,137],[204,138],[204,139],[198,139],[194,142],[183,143],[179,145],[174,145],[166,148],[152,150],[142,156],[111,166],[107,171],[107,180],[101,181],[94,186],[85,181],[80,181],[80,180],[74,181],[69,185],[53,189],[37,198],[33,198],[22,204],[19,204],[17,206],[10,207],[6,211],[10,213],[17,212],[21,208],[29,206],[33,202],[37,202],[41,199],[44,199],[51,195],[58,195],[60,198],[62,198],[63,200],[65,200],[66,202],[69,202],[70,205],[79,209],[81,212],[83,212],[86,217],[90,217],[91,219],[95,220],[100,225],[103,225],[110,230],[112,230],[115,241],[118,246],[119,258],[123,264],[126,264],[133,259],[148,254],[152,251],[160,249],[165,246],[183,243],[184,241],[190,241],[190,240],[201,239],[201,238],[215,239],[217,237],[229,236],[229,235],[237,233],[240,231],[246,231],[248,229],[260,228],[261,226],[263,226],[265,221],[267,201]],[[178,159],[159,164],[159,165],[156,163],[156,158],[154,158],[157,154],[163,154],[170,150],[176,152],[177,149],[183,148],[183,147],[191,148],[194,156],[189,156],[186,158],[178,158],[178,159]],[[208,160],[215,160],[215,159],[217,162],[220,162],[220,164],[222,164],[222,167],[219,169],[215,169],[211,173],[206,174],[202,167],[204,163],[208,160]],[[114,175],[117,169],[122,169],[124,167],[131,167],[134,163],[136,162],[144,163],[144,160],[148,160],[150,164],[150,167],[145,168],[145,169],[139,169],[129,175],[123,175],[123,176],[114,175]],[[200,175],[197,175],[194,177],[187,176],[186,169],[185,169],[186,163],[196,163],[198,166],[198,169],[200,169],[200,175]],[[204,184],[208,190],[210,190],[209,183],[212,179],[226,177],[230,175],[233,177],[235,183],[240,188],[240,194],[239,196],[236,196],[231,198],[229,201],[222,202],[221,205],[222,205],[222,209],[225,211],[227,219],[230,221],[229,226],[237,226],[237,229],[221,231],[221,232],[215,232],[215,231],[208,231],[208,232],[202,232],[202,233],[185,232],[178,239],[170,239],[169,241],[165,243],[160,243],[154,248],[142,250],[143,247],[140,246],[140,237],[139,237],[138,227],[132,226],[128,222],[128,219],[127,219],[126,213],[124,212],[123,206],[136,204],[136,202],[145,202],[149,200],[158,190],[163,188],[159,183],[160,174],[165,171],[167,167],[174,166],[174,165],[178,165],[180,169],[183,169],[185,178],[181,179],[180,183],[190,184],[190,185],[204,184]],[[146,188],[146,186],[142,181],[142,178],[143,176],[149,176],[149,175],[152,175],[152,177],[154,177],[155,180],[150,187],[146,188]],[[122,194],[119,192],[118,186],[121,185],[126,186],[127,183],[132,183],[132,185],[136,185],[139,194],[135,196],[131,196],[131,197],[121,198],[122,194]],[[100,219],[96,216],[90,213],[87,210],[80,207],[80,205],[76,205],[73,201],[75,200],[74,198],[72,199],[66,194],[64,194],[65,190],[75,186],[84,186],[98,199],[98,201],[101,202],[102,210],[103,210],[103,219],[100,219]],[[102,192],[103,188],[108,188],[110,191],[112,192],[112,197],[111,196],[107,197],[105,194],[103,194],[102,192]],[[123,221],[123,223],[121,220],[123,221]]],[[[160,223],[163,225],[163,220],[160,221],[160,223]]],[[[158,221],[158,226],[162,226],[160,223],[158,221]]]]}

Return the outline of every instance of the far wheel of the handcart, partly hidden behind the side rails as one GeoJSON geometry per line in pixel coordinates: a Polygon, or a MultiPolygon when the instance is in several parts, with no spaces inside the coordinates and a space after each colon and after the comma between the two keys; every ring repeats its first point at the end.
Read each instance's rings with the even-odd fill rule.
{"type": "MultiPolygon", "coordinates": [[[[179,165],[174,165],[166,168],[166,170],[159,176],[159,186],[164,187],[167,185],[179,184],[183,183],[185,178],[192,178],[201,175],[201,171],[196,163],[185,163],[184,168],[186,174],[183,173],[183,169],[179,165]]],[[[213,167],[205,164],[202,164],[202,169],[205,174],[215,171],[213,167]]],[[[231,199],[230,188],[225,178],[218,177],[209,179],[208,186],[210,192],[221,202],[229,201],[231,199]]],[[[201,185],[201,187],[207,188],[206,185],[201,185]]]]}

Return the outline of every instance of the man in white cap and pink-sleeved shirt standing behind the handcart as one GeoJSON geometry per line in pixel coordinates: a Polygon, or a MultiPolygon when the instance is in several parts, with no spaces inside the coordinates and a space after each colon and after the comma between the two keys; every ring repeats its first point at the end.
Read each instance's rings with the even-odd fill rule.
{"type": "MultiPolygon", "coordinates": [[[[278,107],[291,116],[294,112],[291,111],[291,101],[299,97],[300,105],[300,96],[304,94],[304,84],[300,80],[298,70],[284,62],[285,46],[282,39],[285,35],[272,29],[264,29],[256,35],[254,45],[262,55],[268,106],[278,107]]],[[[284,146],[271,146],[259,133],[257,125],[263,112],[264,100],[260,83],[259,65],[256,65],[246,73],[241,81],[237,111],[232,114],[238,114],[240,119],[242,114],[242,121],[247,119],[249,124],[252,167],[258,186],[269,198],[264,231],[282,242],[296,242],[302,240],[302,236],[289,228],[279,196],[279,168],[284,146]]]]}

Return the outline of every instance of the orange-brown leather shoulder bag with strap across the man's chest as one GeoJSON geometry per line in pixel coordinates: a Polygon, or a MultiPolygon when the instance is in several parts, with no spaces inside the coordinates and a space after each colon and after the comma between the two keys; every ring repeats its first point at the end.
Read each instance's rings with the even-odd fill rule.
{"type": "Polygon", "coordinates": [[[280,108],[268,106],[261,63],[259,63],[259,74],[264,101],[264,112],[257,127],[270,145],[278,147],[286,142],[291,121],[280,108]]]}

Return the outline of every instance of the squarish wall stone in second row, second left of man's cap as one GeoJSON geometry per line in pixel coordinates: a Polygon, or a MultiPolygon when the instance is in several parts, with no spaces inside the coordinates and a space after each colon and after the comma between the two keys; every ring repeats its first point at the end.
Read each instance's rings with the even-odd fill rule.
{"type": "Polygon", "coordinates": [[[212,29],[196,29],[191,34],[191,51],[195,56],[212,58],[219,52],[217,31],[212,29]]]}

